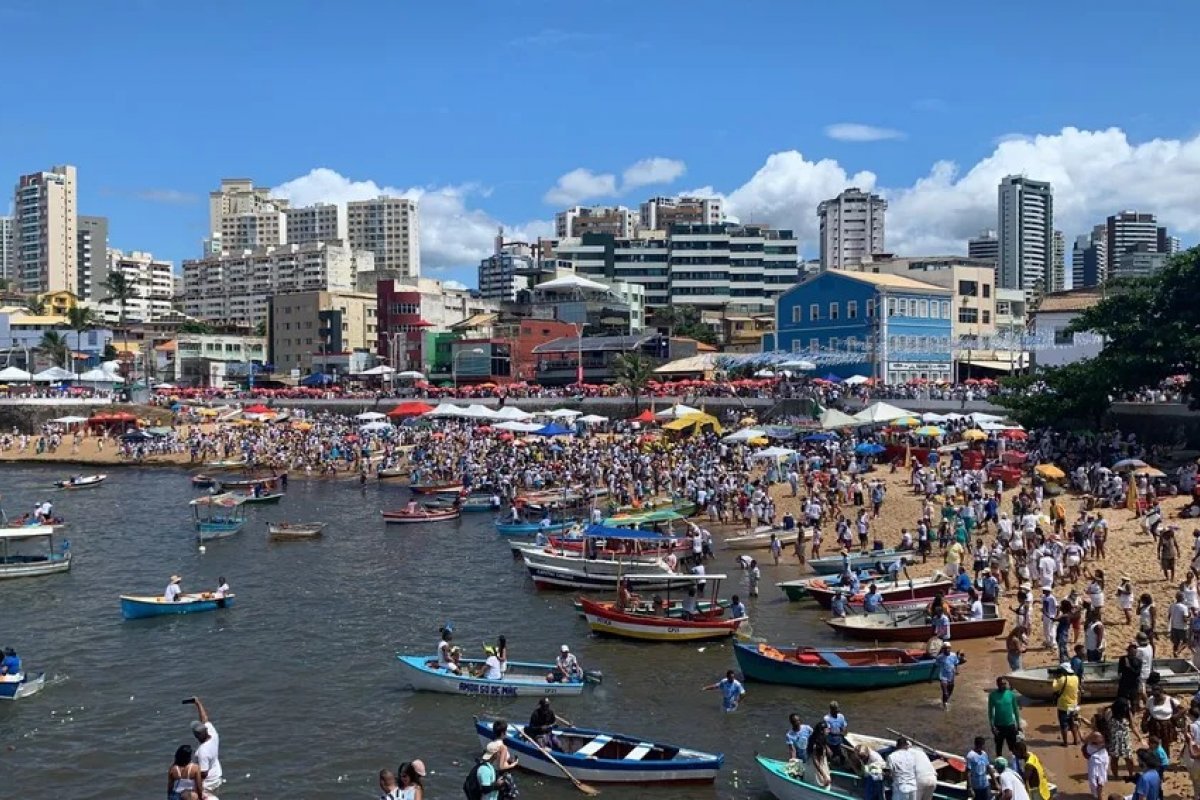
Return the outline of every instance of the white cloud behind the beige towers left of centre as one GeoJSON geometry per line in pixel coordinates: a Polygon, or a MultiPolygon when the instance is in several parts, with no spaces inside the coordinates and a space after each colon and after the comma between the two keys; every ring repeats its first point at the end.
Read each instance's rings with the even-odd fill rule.
{"type": "MultiPolygon", "coordinates": [[[[474,184],[437,187],[380,186],[371,180],[352,180],[320,167],[271,190],[294,205],[314,203],[346,204],[380,196],[407,197],[418,204],[420,218],[421,267],[438,271],[450,266],[470,266],[492,252],[499,219],[481,209],[469,207],[473,197],[487,191],[474,184]]],[[[554,225],[544,219],[504,224],[508,239],[533,240],[553,235],[554,225]]]]}

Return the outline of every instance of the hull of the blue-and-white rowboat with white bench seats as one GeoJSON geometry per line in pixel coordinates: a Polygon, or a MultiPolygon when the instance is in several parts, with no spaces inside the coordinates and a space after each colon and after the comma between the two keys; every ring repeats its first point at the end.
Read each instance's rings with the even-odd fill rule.
{"type": "MultiPolygon", "coordinates": [[[[514,730],[512,724],[504,736],[509,751],[521,759],[521,766],[530,772],[550,777],[563,777],[562,770],[538,747],[514,730]]],[[[523,729],[523,727],[522,727],[523,729]]],[[[475,722],[475,733],[481,746],[492,740],[492,721],[475,722]]],[[[575,735],[608,736],[610,740],[626,745],[654,746],[653,742],[617,733],[588,730],[584,728],[554,728],[553,733],[560,740],[575,735]]],[[[702,753],[674,745],[656,745],[677,753],[673,759],[636,760],[631,758],[595,758],[553,751],[553,757],[576,777],[587,783],[712,783],[725,763],[720,753],[702,753]]]]}

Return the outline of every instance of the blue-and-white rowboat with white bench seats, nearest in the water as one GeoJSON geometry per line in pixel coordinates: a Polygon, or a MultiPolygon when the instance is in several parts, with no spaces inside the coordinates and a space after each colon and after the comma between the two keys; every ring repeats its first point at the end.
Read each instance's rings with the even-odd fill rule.
{"type": "MultiPolygon", "coordinates": [[[[480,744],[492,740],[492,720],[476,720],[480,744]]],[[[554,727],[558,746],[550,753],[578,781],[590,783],[712,783],[725,763],[720,753],[704,753],[679,745],[647,741],[605,730],[554,727]]],[[[509,724],[504,744],[520,757],[521,766],[539,775],[563,772],[526,739],[524,726],[509,724]]]]}

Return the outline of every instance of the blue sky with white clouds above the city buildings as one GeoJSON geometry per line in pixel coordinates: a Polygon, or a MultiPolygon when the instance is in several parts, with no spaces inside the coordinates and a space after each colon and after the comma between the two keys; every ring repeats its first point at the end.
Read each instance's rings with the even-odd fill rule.
{"type": "Polygon", "coordinates": [[[658,194],[721,196],[811,257],[817,203],[858,186],[888,198],[889,251],[965,253],[1015,173],[1054,184],[1069,271],[1124,209],[1200,239],[1198,22],[1174,0],[0,0],[0,186],[74,164],[109,246],[176,264],[222,178],[403,194],[422,273],[474,285],[500,225],[658,194]]]}

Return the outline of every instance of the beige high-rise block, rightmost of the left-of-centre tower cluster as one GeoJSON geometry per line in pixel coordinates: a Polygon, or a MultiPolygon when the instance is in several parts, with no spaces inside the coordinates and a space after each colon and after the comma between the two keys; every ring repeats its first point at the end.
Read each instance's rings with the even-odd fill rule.
{"type": "Polygon", "coordinates": [[[347,240],[354,249],[374,253],[380,277],[415,278],[421,273],[416,203],[402,197],[347,203],[347,240]]]}

